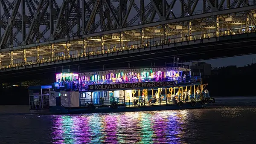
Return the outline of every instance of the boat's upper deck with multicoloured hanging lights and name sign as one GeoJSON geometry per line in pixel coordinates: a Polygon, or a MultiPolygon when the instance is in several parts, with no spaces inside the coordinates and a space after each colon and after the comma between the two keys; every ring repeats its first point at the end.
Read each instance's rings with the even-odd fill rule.
{"type": "Polygon", "coordinates": [[[189,75],[183,67],[113,69],[99,72],[58,73],[55,87],[79,91],[104,91],[173,87],[200,83],[200,77],[189,75]]]}

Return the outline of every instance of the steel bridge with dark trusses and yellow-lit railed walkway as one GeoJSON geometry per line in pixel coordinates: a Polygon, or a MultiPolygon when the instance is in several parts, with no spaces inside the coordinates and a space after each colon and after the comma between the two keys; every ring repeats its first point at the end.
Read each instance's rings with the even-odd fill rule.
{"type": "Polygon", "coordinates": [[[6,72],[253,33],[256,0],[0,0],[0,17],[6,72]]]}

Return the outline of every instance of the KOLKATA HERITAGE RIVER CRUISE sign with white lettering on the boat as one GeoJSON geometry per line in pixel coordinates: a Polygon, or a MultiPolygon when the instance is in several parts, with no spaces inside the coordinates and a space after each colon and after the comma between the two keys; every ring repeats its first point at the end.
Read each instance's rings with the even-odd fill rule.
{"type": "Polygon", "coordinates": [[[145,89],[145,88],[164,88],[176,86],[177,81],[141,82],[141,83],[122,83],[122,84],[95,84],[89,85],[89,91],[104,91],[115,89],[145,89]]]}

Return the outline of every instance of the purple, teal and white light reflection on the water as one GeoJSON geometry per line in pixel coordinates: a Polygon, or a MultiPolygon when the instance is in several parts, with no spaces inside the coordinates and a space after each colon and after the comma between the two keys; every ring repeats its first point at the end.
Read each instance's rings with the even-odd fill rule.
{"type": "Polygon", "coordinates": [[[187,110],[52,116],[55,144],[185,143],[187,110]]]}

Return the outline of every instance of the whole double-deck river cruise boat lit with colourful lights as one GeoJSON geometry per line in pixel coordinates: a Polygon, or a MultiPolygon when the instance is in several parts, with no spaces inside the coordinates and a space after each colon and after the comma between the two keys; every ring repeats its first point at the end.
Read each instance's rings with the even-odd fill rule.
{"type": "Polygon", "coordinates": [[[181,67],[56,74],[29,87],[31,112],[94,113],[195,109],[214,103],[200,77],[181,67]]]}

